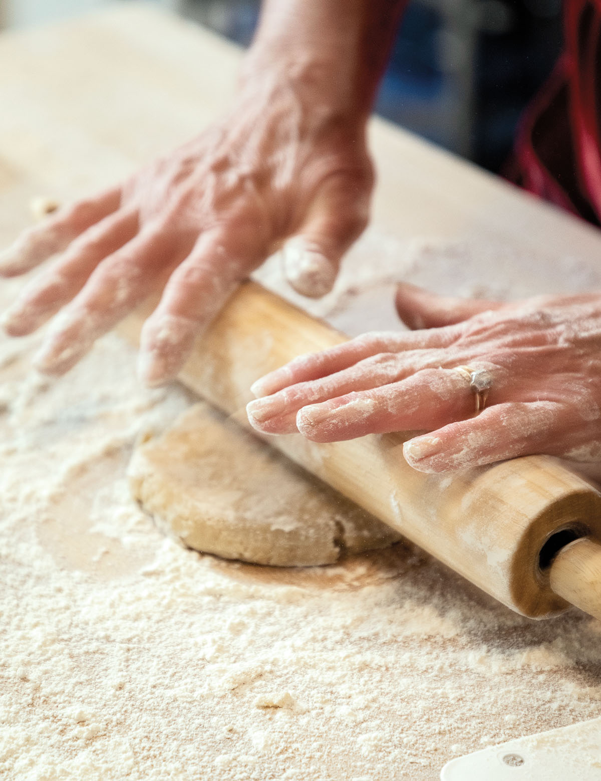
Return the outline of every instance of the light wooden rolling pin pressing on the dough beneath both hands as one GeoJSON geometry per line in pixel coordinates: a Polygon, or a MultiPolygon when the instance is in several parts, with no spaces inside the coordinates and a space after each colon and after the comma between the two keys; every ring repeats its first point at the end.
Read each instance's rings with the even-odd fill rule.
{"type": "MultiPolygon", "coordinates": [[[[153,305],[134,312],[119,332],[137,344],[153,305]]],[[[179,379],[248,426],[244,407],[254,380],[301,353],[346,340],[247,282],[197,339],[179,379]]],[[[542,619],[574,604],[601,619],[601,494],[592,483],[541,455],[419,473],[403,457],[408,437],[329,444],[300,434],[267,439],[514,611],[542,619]]]]}

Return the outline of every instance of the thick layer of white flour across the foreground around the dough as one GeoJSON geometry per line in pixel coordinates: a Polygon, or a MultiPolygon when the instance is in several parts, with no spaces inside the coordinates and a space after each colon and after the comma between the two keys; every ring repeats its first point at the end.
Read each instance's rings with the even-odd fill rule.
{"type": "Polygon", "coordinates": [[[576,610],[521,618],[409,544],[294,570],[162,537],[126,465],[194,399],[115,336],[59,380],[39,343],[0,339],[0,778],[435,781],[601,713],[576,610]]]}

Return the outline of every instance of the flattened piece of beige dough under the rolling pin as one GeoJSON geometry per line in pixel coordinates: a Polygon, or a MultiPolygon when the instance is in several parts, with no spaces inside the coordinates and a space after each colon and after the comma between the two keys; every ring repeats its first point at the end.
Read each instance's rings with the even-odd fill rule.
{"type": "Polygon", "coordinates": [[[140,444],[130,487],[157,526],[197,551],[278,566],[331,564],[399,535],[201,403],[140,444]]]}

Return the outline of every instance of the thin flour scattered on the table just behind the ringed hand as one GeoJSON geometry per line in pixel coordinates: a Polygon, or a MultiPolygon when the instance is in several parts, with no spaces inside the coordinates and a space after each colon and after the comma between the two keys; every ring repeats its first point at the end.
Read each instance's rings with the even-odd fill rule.
{"type": "Polygon", "coordinates": [[[311,301],[283,283],[279,257],[268,259],[255,278],[311,314],[325,317],[350,336],[368,330],[400,330],[393,305],[399,282],[443,295],[515,301],[538,294],[568,294],[601,287],[598,269],[575,255],[549,258],[490,237],[444,241],[415,237],[400,241],[368,227],[347,253],[333,290],[311,301]]]}

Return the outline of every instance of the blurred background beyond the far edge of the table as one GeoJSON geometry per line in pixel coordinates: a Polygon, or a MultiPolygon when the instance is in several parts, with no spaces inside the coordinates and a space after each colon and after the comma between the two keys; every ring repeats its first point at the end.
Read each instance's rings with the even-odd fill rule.
{"type": "MultiPolygon", "coordinates": [[[[47,23],[107,2],[0,0],[0,25],[47,23]]],[[[260,5],[260,0],[148,2],[244,46],[260,5]]],[[[557,59],[561,37],[560,0],[411,0],[376,111],[498,172],[522,109],[557,59]]]]}

